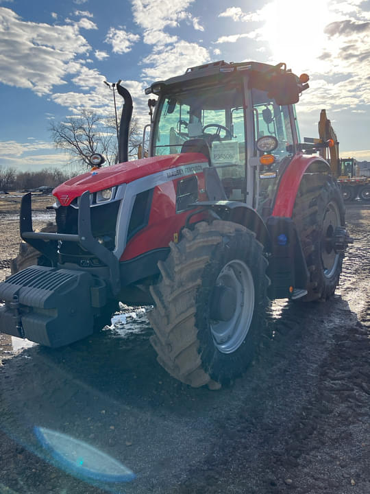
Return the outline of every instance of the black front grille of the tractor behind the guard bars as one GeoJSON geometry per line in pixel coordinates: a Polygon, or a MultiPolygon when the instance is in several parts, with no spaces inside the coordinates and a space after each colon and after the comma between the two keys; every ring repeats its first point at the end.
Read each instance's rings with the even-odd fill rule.
{"type": "MultiPolygon", "coordinates": [[[[109,250],[114,250],[116,242],[116,221],[120,201],[108,202],[99,206],[90,207],[91,230],[95,238],[102,240],[103,245],[109,250]]],[[[78,209],[72,206],[60,206],[56,210],[56,224],[58,233],[78,233],[78,209]]],[[[75,242],[60,242],[60,262],[73,262],[81,264],[88,259],[94,265],[99,265],[99,260],[82,249],[75,242]]]]}

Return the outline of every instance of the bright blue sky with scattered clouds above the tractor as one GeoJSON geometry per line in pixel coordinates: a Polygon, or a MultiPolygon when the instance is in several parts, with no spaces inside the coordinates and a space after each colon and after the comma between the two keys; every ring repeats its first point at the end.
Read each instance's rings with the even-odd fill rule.
{"type": "Polygon", "coordinates": [[[0,0],[0,167],[65,166],[51,121],[113,116],[105,80],[123,81],[145,124],[151,82],[216,60],[308,73],[301,137],[325,108],[341,156],[370,161],[370,0],[0,0]]]}

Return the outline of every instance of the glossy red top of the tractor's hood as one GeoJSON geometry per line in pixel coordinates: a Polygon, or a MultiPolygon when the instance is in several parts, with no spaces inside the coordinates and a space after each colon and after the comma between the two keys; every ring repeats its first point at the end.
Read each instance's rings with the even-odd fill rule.
{"type": "Polygon", "coordinates": [[[73,177],[56,187],[53,195],[60,204],[69,206],[73,199],[81,196],[85,191],[97,192],[114,187],[114,185],[133,182],[138,178],[162,172],[165,169],[193,163],[208,163],[208,160],[204,154],[189,152],[127,161],[73,177]]]}

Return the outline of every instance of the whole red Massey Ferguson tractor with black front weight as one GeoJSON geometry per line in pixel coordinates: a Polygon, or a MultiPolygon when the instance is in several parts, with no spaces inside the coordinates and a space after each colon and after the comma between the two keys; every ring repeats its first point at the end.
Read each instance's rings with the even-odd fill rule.
{"type": "Polygon", "coordinates": [[[153,305],[158,362],[190,386],[245,371],[269,299],[332,294],[350,239],[341,191],[320,144],[299,144],[294,104],[308,88],[285,64],[215,62],[155,82],[149,157],[53,191],[56,233],[21,237],[39,264],[0,284],[0,331],[58,347],[102,327],[118,307],[153,305]],[[307,152],[310,154],[305,154],[307,152]]]}

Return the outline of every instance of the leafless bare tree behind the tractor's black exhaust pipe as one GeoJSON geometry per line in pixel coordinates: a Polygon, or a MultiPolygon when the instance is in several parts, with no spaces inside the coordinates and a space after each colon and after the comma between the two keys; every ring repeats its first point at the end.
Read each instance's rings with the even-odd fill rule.
{"type": "MultiPolygon", "coordinates": [[[[116,163],[118,143],[114,118],[103,118],[91,110],[82,110],[81,115],[66,117],[62,122],[51,124],[51,134],[56,148],[71,155],[71,163],[89,166],[88,158],[100,153],[108,165],[116,163]]],[[[138,124],[132,120],[129,137],[129,156],[137,154],[140,143],[138,124]]]]}

